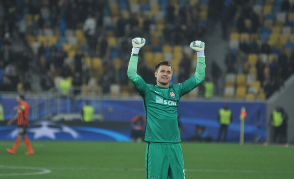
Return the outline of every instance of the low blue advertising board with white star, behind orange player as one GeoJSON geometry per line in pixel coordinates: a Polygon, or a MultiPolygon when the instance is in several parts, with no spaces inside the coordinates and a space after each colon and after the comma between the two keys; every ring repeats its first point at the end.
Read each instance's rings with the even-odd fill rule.
{"type": "MultiPolygon", "coordinates": [[[[0,122],[0,139],[15,139],[16,125],[6,126],[0,122]]],[[[129,122],[83,122],[74,121],[31,121],[27,128],[30,139],[38,140],[106,140],[130,141],[129,122]]]]}

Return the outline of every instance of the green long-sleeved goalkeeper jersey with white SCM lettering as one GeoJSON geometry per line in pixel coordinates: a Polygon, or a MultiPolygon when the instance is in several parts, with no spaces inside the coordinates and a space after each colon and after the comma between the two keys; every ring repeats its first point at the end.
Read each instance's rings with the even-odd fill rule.
{"type": "Polygon", "coordinates": [[[181,142],[177,122],[177,109],[180,98],[193,90],[205,76],[205,57],[197,58],[195,75],[182,83],[171,84],[168,88],[147,84],[137,75],[138,55],[131,55],[128,65],[128,78],[142,96],[146,114],[145,141],[181,142]]]}

